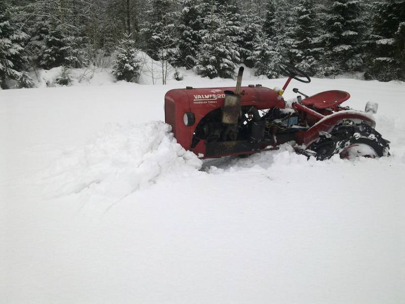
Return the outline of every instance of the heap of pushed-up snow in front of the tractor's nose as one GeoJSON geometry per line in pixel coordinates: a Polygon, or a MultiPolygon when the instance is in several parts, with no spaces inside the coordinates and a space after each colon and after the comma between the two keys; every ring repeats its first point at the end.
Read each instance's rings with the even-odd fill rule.
{"type": "Polygon", "coordinates": [[[170,125],[148,122],[109,125],[84,148],[65,153],[48,174],[56,179],[57,196],[121,199],[165,176],[188,177],[200,167],[201,161],[176,142],[170,125]]]}

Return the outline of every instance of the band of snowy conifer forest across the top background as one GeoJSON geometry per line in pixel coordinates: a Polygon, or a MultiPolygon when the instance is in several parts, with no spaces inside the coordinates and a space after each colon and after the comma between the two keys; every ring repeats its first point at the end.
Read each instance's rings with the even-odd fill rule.
{"type": "Polygon", "coordinates": [[[0,87],[30,73],[111,68],[136,82],[142,54],[166,83],[177,67],[233,78],[245,64],[279,77],[289,62],[318,78],[405,81],[405,0],[0,0],[0,87]]]}

